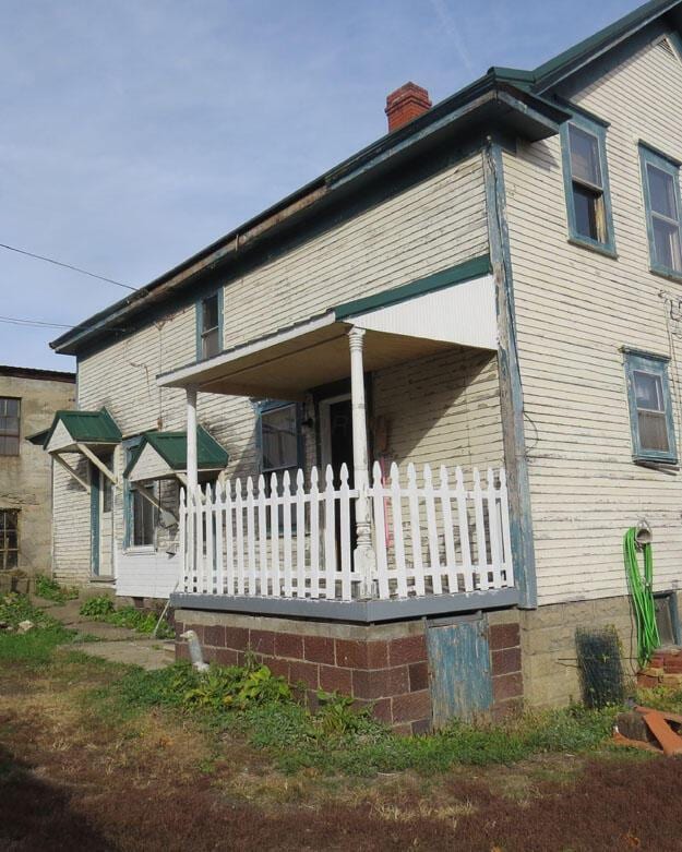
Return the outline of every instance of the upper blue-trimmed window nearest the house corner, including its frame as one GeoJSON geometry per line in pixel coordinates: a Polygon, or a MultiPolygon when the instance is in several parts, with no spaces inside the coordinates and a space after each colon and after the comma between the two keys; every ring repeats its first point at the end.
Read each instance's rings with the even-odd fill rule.
{"type": "Polygon", "coordinates": [[[606,127],[575,115],[562,124],[561,145],[571,239],[615,253],[606,127]]]}

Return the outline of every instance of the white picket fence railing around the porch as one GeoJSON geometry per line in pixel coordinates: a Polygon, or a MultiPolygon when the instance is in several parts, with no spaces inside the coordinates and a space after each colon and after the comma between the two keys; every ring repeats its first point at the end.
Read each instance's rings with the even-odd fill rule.
{"type": "Polygon", "coordinates": [[[180,495],[180,552],[184,590],[204,595],[312,598],[367,597],[500,589],[514,585],[504,469],[486,481],[445,466],[434,479],[412,465],[392,465],[384,479],[374,465],[363,497],[371,506],[375,566],[364,577],[354,566],[354,508],[359,497],[344,465],[308,485],[285,472],[206,485],[186,503],[180,495]]]}

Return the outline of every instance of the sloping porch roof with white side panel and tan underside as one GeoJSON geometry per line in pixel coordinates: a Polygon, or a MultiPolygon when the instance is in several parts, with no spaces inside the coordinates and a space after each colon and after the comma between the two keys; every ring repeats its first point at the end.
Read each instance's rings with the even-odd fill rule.
{"type": "Polygon", "coordinates": [[[158,376],[161,387],[301,399],[350,371],[347,333],[366,329],[368,371],[453,345],[495,350],[494,283],[488,255],[324,313],[158,376]]]}

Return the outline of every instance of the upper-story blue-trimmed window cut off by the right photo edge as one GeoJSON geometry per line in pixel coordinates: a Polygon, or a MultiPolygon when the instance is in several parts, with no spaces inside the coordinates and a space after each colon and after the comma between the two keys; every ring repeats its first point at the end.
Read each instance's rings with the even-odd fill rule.
{"type": "Polygon", "coordinates": [[[680,168],[645,145],[639,157],[651,269],[682,276],[680,168]]]}

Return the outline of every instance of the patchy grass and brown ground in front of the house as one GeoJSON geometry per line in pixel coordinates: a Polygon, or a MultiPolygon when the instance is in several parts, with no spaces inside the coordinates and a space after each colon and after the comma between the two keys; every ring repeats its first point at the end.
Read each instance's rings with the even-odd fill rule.
{"type": "Polygon", "coordinates": [[[610,747],[611,711],[400,739],[276,679],[72,640],[0,632],[1,849],[682,849],[682,764],[610,747]]]}

